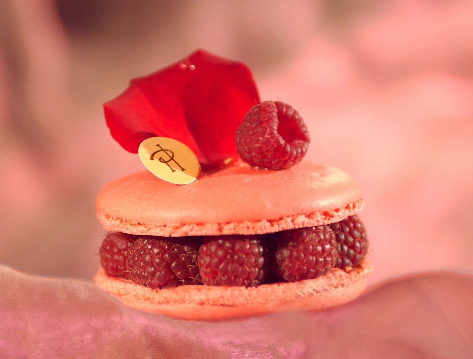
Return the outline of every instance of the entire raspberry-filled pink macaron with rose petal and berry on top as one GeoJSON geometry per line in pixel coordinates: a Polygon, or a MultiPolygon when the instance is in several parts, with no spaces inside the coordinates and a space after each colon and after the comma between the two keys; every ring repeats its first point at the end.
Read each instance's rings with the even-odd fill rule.
{"type": "Polygon", "coordinates": [[[125,149],[172,137],[204,171],[184,185],[143,171],[100,191],[97,217],[108,231],[100,288],[136,309],[201,320],[318,310],[359,296],[372,268],[358,184],[303,160],[310,137],[292,106],[258,103],[245,65],[199,51],[105,105],[125,149]],[[189,100],[192,88],[219,101],[204,111],[210,100],[189,100]]]}

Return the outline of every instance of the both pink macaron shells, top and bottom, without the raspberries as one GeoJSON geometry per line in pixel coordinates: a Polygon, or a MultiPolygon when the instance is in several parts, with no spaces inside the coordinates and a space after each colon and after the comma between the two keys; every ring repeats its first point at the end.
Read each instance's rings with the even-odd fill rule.
{"type": "MultiPolygon", "coordinates": [[[[237,161],[201,172],[191,184],[165,182],[149,171],[115,180],[96,199],[105,230],[137,236],[265,235],[340,222],[357,215],[363,197],[340,169],[303,161],[283,171],[237,161]]],[[[127,306],[178,318],[222,320],[341,305],[366,288],[367,259],[306,280],[262,283],[254,288],[180,285],[150,289],[109,277],[99,269],[96,285],[127,306]]]]}

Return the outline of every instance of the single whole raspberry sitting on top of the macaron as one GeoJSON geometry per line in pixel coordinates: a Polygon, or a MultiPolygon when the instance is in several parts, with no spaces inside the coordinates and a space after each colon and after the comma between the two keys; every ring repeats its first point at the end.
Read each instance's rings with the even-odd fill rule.
{"type": "Polygon", "coordinates": [[[253,106],[236,129],[236,151],[251,166],[274,170],[296,166],[306,155],[307,126],[291,105],[266,101],[253,106]]]}

